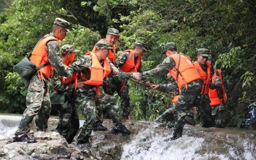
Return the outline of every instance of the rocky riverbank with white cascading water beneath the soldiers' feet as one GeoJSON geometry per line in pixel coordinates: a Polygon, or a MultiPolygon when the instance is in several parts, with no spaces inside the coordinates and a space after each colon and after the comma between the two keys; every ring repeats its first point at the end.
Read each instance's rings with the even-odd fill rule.
{"type": "MultiPolygon", "coordinates": [[[[37,143],[13,143],[14,135],[1,139],[0,160],[119,160],[148,159],[148,157],[253,160],[256,157],[256,130],[185,125],[182,138],[166,142],[164,140],[172,136],[172,129],[166,128],[165,125],[127,120],[124,124],[131,129],[130,136],[115,134],[111,130],[97,131],[92,133],[90,143],[75,145],[75,141],[74,144],[68,144],[59,133],[52,132],[56,123],[56,119],[49,120],[48,132],[35,132],[31,127],[30,133],[34,134],[37,143]]],[[[113,123],[111,120],[104,120],[103,125],[110,129],[113,123]]]]}

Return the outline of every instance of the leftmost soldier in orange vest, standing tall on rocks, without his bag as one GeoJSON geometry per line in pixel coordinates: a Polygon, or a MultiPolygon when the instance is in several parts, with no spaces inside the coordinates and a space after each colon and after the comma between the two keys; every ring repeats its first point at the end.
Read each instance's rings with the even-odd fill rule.
{"type": "Polygon", "coordinates": [[[59,57],[59,40],[63,40],[66,32],[70,32],[69,26],[70,24],[66,20],[56,18],[52,33],[41,37],[30,54],[30,61],[41,68],[38,69],[37,73],[30,80],[26,95],[27,108],[23,113],[20,126],[15,132],[15,142],[36,142],[26,134],[36,115],[38,116],[36,119],[37,130],[46,131],[51,113],[48,79],[51,76],[52,68],[59,75],[66,76],[68,79],[71,78],[71,74],[65,69],[59,57]]]}

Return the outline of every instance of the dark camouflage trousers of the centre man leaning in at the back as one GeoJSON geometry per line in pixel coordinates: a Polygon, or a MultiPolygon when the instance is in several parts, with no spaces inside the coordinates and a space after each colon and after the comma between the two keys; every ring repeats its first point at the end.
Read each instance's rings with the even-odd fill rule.
{"type": "Polygon", "coordinates": [[[115,91],[121,98],[121,106],[123,110],[123,115],[129,116],[130,115],[130,96],[129,96],[129,85],[127,82],[125,82],[125,85],[123,83],[112,80],[111,81],[111,90],[112,93],[115,91]]]}

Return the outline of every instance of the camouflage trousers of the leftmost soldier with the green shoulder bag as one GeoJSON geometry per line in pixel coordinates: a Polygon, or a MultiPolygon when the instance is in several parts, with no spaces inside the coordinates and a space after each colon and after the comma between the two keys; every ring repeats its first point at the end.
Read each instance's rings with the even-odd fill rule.
{"type": "Polygon", "coordinates": [[[49,98],[48,83],[45,79],[44,81],[39,79],[37,74],[32,77],[29,83],[26,106],[27,108],[23,113],[20,126],[15,132],[15,135],[25,133],[35,116],[37,131],[46,131],[52,107],[49,98]]]}

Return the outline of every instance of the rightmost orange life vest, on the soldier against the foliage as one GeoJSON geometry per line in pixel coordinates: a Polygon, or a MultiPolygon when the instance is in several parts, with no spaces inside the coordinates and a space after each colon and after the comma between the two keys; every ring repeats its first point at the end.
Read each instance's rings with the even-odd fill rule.
{"type": "MultiPolygon", "coordinates": [[[[220,78],[220,80],[222,81],[222,74],[221,74],[221,69],[217,69],[215,70],[214,75],[212,76],[212,83],[214,83],[215,78],[217,77],[217,74],[220,78]]],[[[214,89],[209,91],[209,98],[211,100],[210,106],[216,106],[222,103],[226,102],[226,97],[225,97],[225,88],[224,88],[224,84],[222,81],[222,88],[221,89],[214,89]],[[219,92],[222,92],[222,96],[220,97],[219,92]]]]}

